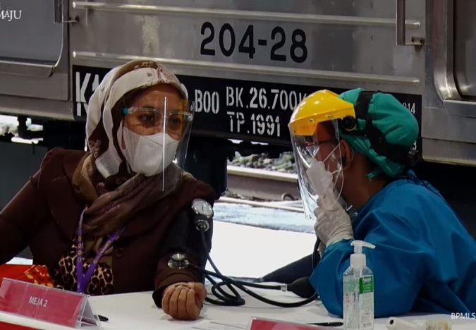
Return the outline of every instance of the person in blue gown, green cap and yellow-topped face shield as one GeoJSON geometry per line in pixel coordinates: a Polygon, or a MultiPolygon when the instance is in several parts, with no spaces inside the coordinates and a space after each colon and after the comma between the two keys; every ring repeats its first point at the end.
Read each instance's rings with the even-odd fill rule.
{"type": "Polygon", "coordinates": [[[289,126],[301,195],[322,242],[310,283],[331,314],[343,314],[353,240],[375,245],[364,249],[374,272],[369,317],[476,312],[476,241],[439,192],[411,171],[418,124],[408,109],[391,94],[321,91],[303,100],[289,126]],[[312,161],[303,165],[310,149],[312,161]],[[352,221],[345,204],[357,210],[352,221]]]}

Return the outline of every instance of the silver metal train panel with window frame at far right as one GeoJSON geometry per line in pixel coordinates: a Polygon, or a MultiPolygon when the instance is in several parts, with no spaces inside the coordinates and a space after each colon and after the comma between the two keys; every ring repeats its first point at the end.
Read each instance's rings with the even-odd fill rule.
{"type": "MultiPolygon", "coordinates": [[[[467,33],[454,11],[467,6],[465,0],[427,0],[427,43],[425,109],[422,114],[424,157],[430,161],[476,165],[476,103],[463,99],[453,68],[461,66],[460,34],[467,33]],[[463,30],[455,30],[455,28],[463,30]],[[454,38],[453,38],[454,37],[454,38]],[[454,40],[454,42],[453,42],[454,40]]],[[[463,47],[464,49],[464,47],[463,47]]]]}

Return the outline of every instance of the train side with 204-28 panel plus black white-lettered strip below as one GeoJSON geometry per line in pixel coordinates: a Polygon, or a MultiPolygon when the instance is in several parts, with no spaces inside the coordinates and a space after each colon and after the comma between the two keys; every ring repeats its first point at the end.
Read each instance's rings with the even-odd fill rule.
{"type": "MultiPolygon", "coordinates": [[[[200,135],[288,145],[293,107],[321,88],[393,92],[420,121],[425,52],[396,45],[393,0],[303,0],[292,9],[288,0],[119,1],[73,1],[78,114],[101,68],[146,57],[178,73],[197,101],[200,135]]],[[[425,2],[407,12],[408,39],[425,37],[425,2]]]]}

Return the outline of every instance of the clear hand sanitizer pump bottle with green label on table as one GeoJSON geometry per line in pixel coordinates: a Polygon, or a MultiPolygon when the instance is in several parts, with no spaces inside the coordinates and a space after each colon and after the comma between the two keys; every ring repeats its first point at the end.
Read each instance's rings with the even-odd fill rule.
{"type": "Polygon", "coordinates": [[[350,267],[343,274],[343,319],[346,330],[374,329],[374,274],[367,267],[362,247],[375,248],[362,240],[350,245],[350,267]]]}

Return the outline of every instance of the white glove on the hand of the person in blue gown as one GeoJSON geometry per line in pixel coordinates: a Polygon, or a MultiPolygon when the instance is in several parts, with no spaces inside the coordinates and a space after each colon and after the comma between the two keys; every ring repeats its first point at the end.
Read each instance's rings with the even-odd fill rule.
{"type": "Polygon", "coordinates": [[[314,211],[317,219],[314,229],[322,244],[328,247],[339,240],[348,240],[354,237],[350,216],[338,203],[334,192],[329,192],[319,198],[317,206],[314,211]]]}

